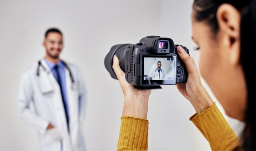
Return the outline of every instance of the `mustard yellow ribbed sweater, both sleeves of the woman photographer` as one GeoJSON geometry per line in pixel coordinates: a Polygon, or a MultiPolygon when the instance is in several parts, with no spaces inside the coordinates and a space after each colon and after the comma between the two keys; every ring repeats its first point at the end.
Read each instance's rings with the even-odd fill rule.
{"type": "MultiPolygon", "coordinates": [[[[214,103],[190,119],[208,140],[212,151],[232,151],[240,142],[214,103]]],[[[121,117],[117,151],[147,151],[148,120],[130,116],[121,117]]]]}

